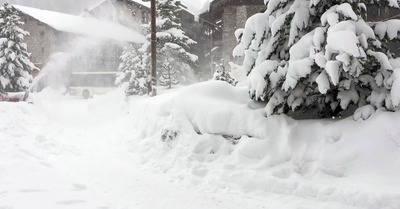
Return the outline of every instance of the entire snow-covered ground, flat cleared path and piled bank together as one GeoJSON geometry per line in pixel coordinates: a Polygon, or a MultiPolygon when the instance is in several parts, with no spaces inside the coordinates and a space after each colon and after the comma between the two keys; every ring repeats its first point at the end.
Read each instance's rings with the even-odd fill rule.
{"type": "Polygon", "coordinates": [[[265,118],[218,81],[32,100],[0,103],[1,209],[400,208],[400,113],[265,118]]]}

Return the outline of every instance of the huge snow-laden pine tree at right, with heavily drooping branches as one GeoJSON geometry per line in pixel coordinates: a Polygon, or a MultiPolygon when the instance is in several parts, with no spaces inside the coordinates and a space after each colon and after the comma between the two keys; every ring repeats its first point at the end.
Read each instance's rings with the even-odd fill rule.
{"type": "Polygon", "coordinates": [[[398,39],[400,20],[364,21],[368,6],[398,8],[396,0],[266,3],[236,33],[234,55],[245,57],[250,95],[267,102],[267,116],[311,109],[336,115],[353,105],[365,118],[399,106],[400,74],[387,44],[398,39]]]}

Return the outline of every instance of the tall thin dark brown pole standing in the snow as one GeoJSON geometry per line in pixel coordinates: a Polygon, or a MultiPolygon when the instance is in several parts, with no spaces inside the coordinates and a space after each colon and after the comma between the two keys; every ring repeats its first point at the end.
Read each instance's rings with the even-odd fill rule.
{"type": "Polygon", "coordinates": [[[157,95],[156,0],[151,0],[151,96],[157,95]]]}

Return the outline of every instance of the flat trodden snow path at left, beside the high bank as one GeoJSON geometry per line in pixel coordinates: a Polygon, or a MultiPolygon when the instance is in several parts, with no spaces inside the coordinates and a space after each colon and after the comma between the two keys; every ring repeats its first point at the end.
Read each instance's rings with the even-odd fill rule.
{"type": "Polygon", "coordinates": [[[143,167],[118,138],[123,114],[58,99],[0,103],[1,209],[263,208],[143,167]]]}

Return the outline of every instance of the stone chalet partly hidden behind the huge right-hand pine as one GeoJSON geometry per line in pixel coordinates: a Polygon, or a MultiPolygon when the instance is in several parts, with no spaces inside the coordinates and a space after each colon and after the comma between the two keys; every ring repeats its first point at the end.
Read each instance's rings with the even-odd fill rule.
{"type": "Polygon", "coordinates": [[[234,61],[232,51],[237,45],[235,31],[244,28],[252,15],[264,12],[264,0],[214,0],[199,21],[210,38],[212,60],[224,59],[225,66],[234,61]]]}

